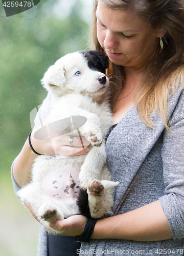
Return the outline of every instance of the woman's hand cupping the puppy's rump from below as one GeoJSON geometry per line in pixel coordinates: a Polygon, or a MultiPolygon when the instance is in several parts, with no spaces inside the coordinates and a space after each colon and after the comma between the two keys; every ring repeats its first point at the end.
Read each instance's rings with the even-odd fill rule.
{"type": "MultiPolygon", "coordinates": [[[[30,203],[25,202],[25,205],[30,210],[33,217],[38,221],[38,219],[35,216],[35,213],[33,212],[30,206],[30,203]]],[[[62,221],[58,220],[56,222],[49,223],[49,226],[56,230],[64,230],[61,236],[75,237],[75,236],[80,236],[80,234],[84,231],[86,222],[87,222],[87,218],[85,216],[74,215],[62,221]]],[[[48,231],[48,232],[52,233],[51,231],[48,231]]]]}

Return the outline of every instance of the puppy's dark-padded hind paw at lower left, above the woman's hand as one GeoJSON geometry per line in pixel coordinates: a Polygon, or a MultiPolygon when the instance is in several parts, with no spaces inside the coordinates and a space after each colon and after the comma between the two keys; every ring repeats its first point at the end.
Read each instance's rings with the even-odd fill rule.
{"type": "Polygon", "coordinates": [[[43,204],[40,206],[38,216],[47,222],[55,222],[57,220],[64,219],[64,217],[59,214],[57,208],[49,204],[43,204]]]}

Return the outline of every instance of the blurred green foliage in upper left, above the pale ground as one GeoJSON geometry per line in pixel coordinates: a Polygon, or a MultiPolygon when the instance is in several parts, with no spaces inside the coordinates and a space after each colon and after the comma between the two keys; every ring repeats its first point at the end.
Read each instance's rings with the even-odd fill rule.
{"type": "Polygon", "coordinates": [[[52,0],[10,17],[0,6],[0,176],[28,137],[29,113],[47,95],[40,84],[44,72],[66,53],[86,49],[89,25],[81,17],[82,2],[76,3],[65,19],[49,14],[52,0]]]}

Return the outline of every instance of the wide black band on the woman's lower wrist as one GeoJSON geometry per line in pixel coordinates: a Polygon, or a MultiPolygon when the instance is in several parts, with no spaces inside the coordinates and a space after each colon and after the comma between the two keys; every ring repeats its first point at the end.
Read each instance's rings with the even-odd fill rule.
{"type": "Polygon", "coordinates": [[[85,224],[84,231],[80,236],[76,236],[78,242],[89,242],[90,237],[93,234],[97,219],[89,218],[85,224]]]}

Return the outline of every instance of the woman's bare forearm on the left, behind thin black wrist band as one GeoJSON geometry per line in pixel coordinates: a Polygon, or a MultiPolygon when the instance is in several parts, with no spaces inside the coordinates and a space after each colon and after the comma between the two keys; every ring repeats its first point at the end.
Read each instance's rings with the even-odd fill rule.
{"type": "Polygon", "coordinates": [[[31,150],[27,139],[13,165],[13,177],[20,188],[30,181],[31,168],[36,157],[37,155],[31,150]]]}

